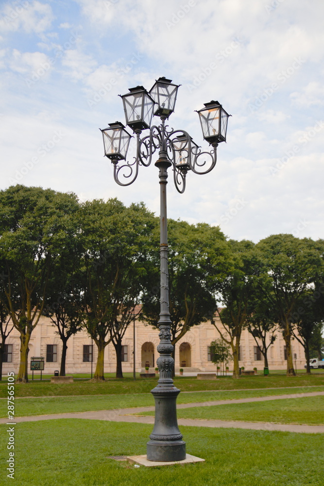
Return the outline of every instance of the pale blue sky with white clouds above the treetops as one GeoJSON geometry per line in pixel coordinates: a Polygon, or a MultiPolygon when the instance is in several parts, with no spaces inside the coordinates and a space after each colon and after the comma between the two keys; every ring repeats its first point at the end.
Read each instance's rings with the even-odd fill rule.
{"type": "Polygon", "coordinates": [[[181,85],[169,126],[203,149],[195,110],[232,115],[211,173],[189,173],[184,194],[169,174],[168,216],[236,240],[324,238],[323,18],[323,0],[1,0],[0,190],[158,215],[157,168],[117,185],[99,128],[125,123],[119,94],[165,76],[181,85]]]}

